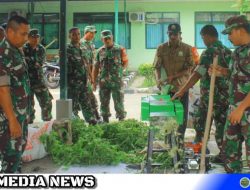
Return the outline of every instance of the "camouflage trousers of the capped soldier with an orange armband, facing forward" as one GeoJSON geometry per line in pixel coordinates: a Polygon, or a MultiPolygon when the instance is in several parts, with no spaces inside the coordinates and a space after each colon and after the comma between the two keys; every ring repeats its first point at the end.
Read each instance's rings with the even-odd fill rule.
{"type": "Polygon", "coordinates": [[[100,85],[100,102],[101,102],[101,115],[102,117],[110,117],[110,98],[114,101],[114,107],[116,111],[116,118],[124,119],[126,117],[126,112],[124,110],[124,92],[122,85],[111,86],[111,85],[100,85]]]}

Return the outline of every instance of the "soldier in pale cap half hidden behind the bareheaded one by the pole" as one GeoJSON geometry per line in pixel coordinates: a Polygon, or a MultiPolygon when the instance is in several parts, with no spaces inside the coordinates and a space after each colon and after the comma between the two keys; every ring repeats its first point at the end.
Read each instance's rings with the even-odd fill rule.
{"type": "MultiPolygon", "coordinates": [[[[95,45],[92,42],[92,40],[95,37],[95,34],[96,34],[95,26],[86,26],[84,29],[84,37],[81,40],[81,48],[82,48],[84,57],[87,61],[88,70],[89,70],[90,74],[92,73],[94,59],[95,59],[95,57],[94,57],[95,56],[95,45]]],[[[92,86],[91,86],[91,83],[92,83],[91,75],[89,75],[88,79],[89,79],[88,80],[88,93],[89,93],[88,96],[90,98],[90,102],[92,105],[92,109],[94,110],[95,116],[100,121],[101,117],[100,117],[99,112],[98,112],[97,100],[96,100],[96,97],[93,93],[92,86]]]]}

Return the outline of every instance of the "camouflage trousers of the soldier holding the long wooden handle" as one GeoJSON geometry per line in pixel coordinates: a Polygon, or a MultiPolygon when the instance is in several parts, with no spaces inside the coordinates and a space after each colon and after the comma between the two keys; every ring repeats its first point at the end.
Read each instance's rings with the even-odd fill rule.
{"type": "MultiPolygon", "coordinates": [[[[244,118],[243,118],[244,120],[244,118]]],[[[232,125],[226,122],[222,144],[222,157],[227,173],[241,173],[242,170],[242,143],[245,141],[246,158],[250,167],[250,124],[232,125]]]]}

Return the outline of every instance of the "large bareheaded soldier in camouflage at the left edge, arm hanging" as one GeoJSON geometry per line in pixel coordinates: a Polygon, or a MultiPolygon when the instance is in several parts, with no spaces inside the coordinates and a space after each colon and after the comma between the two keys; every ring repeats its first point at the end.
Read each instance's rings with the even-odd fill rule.
{"type": "Polygon", "coordinates": [[[30,82],[20,48],[28,39],[29,24],[20,16],[9,19],[0,45],[0,163],[3,173],[20,171],[27,142],[30,82]]]}

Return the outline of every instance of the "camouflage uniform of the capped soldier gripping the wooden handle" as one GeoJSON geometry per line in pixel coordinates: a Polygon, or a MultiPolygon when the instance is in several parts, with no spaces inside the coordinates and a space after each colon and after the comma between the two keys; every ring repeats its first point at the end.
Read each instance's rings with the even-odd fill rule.
{"type": "MultiPolygon", "coordinates": [[[[229,87],[230,106],[228,115],[250,92],[250,44],[238,47],[230,62],[231,83],[229,87]]],[[[241,172],[242,142],[246,143],[246,156],[250,166],[250,108],[246,109],[240,124],[225,125],[223,156],[228,173],[241,172]]]]}

